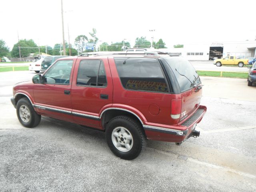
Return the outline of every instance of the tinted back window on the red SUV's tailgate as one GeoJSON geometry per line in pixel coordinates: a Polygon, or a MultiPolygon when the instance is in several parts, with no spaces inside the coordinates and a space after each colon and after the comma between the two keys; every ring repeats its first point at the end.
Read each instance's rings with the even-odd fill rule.
{"type": "Polygon", "coordinates": [[[168,63],[180,86],[180,91],[185,92],[201,83],[201,80],[188,60],[182,57],[166,57],[168,63]]]}

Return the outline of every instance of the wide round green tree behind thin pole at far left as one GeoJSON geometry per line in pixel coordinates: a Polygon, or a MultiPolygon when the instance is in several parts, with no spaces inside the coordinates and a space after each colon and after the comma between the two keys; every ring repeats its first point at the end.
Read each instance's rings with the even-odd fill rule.
{"type": "Polygon", "coordinates": [[[38,46],[35,44],[34,40],[26,40],[21,39],[20,43],[14,44],[12,48],[12,57],[20,57],[19,54],[19,44],[20,44],[20,54],[21,57],[27,57],[30,55],[30,53],[34,53],[38,51],[38,46]]]}

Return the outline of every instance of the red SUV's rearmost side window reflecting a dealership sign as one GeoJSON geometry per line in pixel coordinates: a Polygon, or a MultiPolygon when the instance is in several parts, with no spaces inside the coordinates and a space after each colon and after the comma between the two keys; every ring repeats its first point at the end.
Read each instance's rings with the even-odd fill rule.
{"type": "Polygon", "coordinates": [[[160,63],[155,58],[114,58],[122,86],[128,90],[169,92],[160,63]]]}

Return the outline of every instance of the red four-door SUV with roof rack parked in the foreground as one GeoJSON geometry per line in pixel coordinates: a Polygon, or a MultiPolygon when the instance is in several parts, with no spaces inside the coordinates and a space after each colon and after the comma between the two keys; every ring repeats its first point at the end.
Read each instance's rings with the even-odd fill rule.
{"type": "Polygon", "coordinates": [[[60,58],[13,94],[23,126],[37,126],[43,115],[104,130],[112,152],[128,160],[146,139],[181,144],[199,136],[206,112],[190,62],[156,52],[60,58]]]}

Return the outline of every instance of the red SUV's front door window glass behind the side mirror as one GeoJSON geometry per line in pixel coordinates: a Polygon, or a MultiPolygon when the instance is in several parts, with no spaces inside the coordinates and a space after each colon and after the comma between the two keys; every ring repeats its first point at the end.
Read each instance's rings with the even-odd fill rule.
{"type": "Polygon", "coordinates": [[[44,74],[44,83],[46,83],[46,84],[69,84],[72,64],[73,64],[73,60],[57,61],[46,72],[46,74],[44,74]]]}

